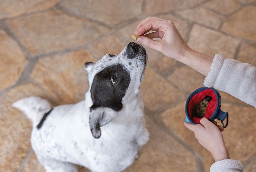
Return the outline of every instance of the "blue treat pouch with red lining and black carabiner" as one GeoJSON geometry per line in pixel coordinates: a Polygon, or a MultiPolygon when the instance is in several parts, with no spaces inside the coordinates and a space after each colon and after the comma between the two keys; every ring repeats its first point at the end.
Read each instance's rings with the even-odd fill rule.
{"type": "Polygon", "coordinates": [[[214,88],[201,87],[194,90],[191,93],[186,101],[185,113],[186,113],[186,122],[192,124],[199,124],[201,118],[195,116],[195,109],[199,106],[199,103],[203,99],[210,99],[205,115],[203,117],[207,118],[209,121],[218,119],[221,121],[223,128],[228,126],[228,112],[223,112],[220,110],[221,100],[219,92],[214,88]],[[227,117],[226,125],[224,125],[223,120],[227,117]]]}

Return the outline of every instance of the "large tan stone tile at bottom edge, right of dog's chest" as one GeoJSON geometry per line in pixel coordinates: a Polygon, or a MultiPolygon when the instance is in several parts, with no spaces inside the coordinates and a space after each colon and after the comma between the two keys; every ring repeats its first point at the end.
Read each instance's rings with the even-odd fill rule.
{"type": "Polygon", "coordinates": [[[167,135],[145,115],[149,141],[139,151],[139,158],[124,172],[197,171],[194,155],[173,137],[167,135]]]}

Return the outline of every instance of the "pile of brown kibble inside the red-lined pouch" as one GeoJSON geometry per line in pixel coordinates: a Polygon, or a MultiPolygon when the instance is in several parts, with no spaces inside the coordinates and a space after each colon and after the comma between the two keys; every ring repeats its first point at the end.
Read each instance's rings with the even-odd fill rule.
{"type": "Polygon", "coordinates": [[[212,98],[210,96],[205,96],[205,98],[201,100],[200,103],[192,111],[192,117],[203,118],[203,116],[206,113],[207,106],[211,101],[211,99],[212,98]]]}

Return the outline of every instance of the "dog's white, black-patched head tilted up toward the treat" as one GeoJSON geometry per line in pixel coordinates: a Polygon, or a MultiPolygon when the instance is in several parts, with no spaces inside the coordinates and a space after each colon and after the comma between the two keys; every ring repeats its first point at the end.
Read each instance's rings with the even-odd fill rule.
{"type": "Polygon", "coordinates": [[[94,138],[101,136],[101,126],[115,118],[123,105],[139,94],[146,64],[146,50],[134,42],[118,55],[106,54],[97,63],[84,64],[90,85],[89,124],[94,138]]]}

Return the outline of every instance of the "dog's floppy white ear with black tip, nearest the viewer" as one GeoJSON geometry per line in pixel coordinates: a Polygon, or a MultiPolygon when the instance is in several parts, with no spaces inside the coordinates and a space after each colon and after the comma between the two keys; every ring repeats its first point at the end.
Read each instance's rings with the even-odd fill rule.
{"type": "Polygon", "coordinates": [[[98,107],[95,109],[91,108],[89,125],[92,132],[92,136],[95,139],[100,138],[101,129],[100,127],[108,124],[116,116],[116,111],[107,107],[98,107]]]}

